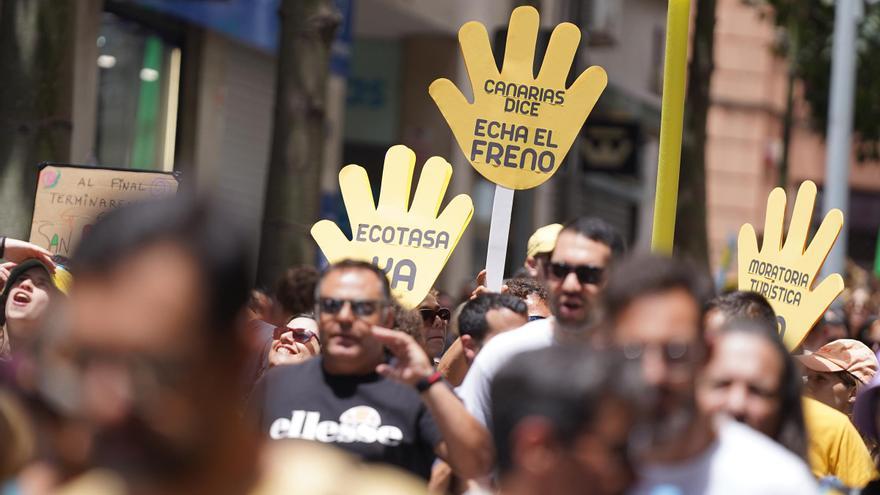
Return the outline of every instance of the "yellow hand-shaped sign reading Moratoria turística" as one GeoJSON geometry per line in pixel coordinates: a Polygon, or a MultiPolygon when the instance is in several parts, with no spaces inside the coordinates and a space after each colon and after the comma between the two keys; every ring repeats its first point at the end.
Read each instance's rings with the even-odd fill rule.
{"type": "Polygon", "coordinates": [[[801,184],[785,243],[782,229],[785,220],[785,190],[776,188],[767,199],[764,243],[758,240],[751,224],[739,231],[739,288],[757,292],[776,311],[779,332],[785,346],[795,349],[831,302],[843,291],[843,278],[833,274],[813,288],[816,275],[843,227],[843,213],[828,212],[813,241],[807,234],[816,203],[816,184],[801,184]]]}

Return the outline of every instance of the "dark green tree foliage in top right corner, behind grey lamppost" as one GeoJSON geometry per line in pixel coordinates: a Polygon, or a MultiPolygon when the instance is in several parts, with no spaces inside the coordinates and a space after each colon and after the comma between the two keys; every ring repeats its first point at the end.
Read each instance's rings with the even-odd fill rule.
{"type": "MultiPolygon", "coordinates": [[[[828,125],[831,47],[834,36],[832,0],[745,0],[768,12],[780,28],[778,48],[803,81],[811,124],[823,134],[828,125]],[[773,14],[775,12],[775,15],[773,14]]],[[[859,26],[858,75],[854,131],[860,161],[880,159],[880,4],[866,2],[859,26]]]]}

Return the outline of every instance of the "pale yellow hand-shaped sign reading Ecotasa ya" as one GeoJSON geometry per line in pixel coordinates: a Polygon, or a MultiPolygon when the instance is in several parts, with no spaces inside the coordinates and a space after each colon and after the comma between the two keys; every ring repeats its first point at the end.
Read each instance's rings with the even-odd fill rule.
{"type": "Polygon", "coordinates": [[[452,177],[452,166],[438,156],[422,168],[409,207],[415,163],[415,153],[406,146],[388,150],[378,206],[367,171],[346,166],[339,172],[339,187],[352,239],[329,220],[312,226],[312,237],[331,263],[346,258],[372,262],[385,271],[395,298],[407,308],[417,306],[431,290],[474,213],[471,198],[460,194],[437,215],[452,177]]]}

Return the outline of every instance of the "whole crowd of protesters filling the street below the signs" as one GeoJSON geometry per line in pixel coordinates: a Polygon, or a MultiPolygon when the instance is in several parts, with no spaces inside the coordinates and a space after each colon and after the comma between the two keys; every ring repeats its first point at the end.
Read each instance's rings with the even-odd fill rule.
{"type": "Polygon", "coordinates": [[[0,494],[880,493],[870,278],[791,353],[763,297],[599,218],[414,309],[354,260],[255,289],[226,218],[0,239],[0,494]]]}

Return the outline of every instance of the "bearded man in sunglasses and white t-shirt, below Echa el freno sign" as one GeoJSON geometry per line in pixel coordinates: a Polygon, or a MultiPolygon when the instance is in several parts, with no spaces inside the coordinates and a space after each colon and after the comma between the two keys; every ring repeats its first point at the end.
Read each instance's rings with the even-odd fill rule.
{"type": "Polygon", "coordinates": [[[458,394],[468,411],[490,426],[489,390],[498,370],[519,353],[554,344],[582,343],[592,335],[593,306],[605,284],[605,270],[621,256],[620,234],[598,218],[568,223],[539,275],[550,291],[553,317],[498,335],[474,359],[458,394]]]}

